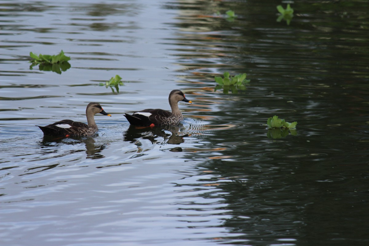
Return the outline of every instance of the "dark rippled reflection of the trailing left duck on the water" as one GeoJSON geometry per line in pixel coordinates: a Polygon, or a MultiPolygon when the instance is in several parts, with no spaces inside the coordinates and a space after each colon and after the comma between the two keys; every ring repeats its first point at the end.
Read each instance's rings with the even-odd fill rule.
{"type": "MultiPolygon", "coordinates": [[[[59,144],[67,144],[67,145],[76,145],[84,143],[86,147],[86,159],[100,159],[105,157],[101,154],[103,149],[106,148],[106,145],[104,144],[96,144],[95,139],[93,137],[55,137],[55,136],[44,136],[44,138],[41,141],[41,145],[44,147],[54,147],[54,152],[57,152],[58,150],[55,148],[55,146],[58,146],[59,144]]],[[[76,153],[80,152],[81,150],[70,150],[69,153],[76,153]]]]}

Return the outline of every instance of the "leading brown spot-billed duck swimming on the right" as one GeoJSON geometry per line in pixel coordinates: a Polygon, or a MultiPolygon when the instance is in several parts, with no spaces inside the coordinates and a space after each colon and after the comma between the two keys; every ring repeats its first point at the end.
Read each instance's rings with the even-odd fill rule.
{"type": "Polygon", "coordinates": [[[183,115],[178,108],[178,102],[184,101],[186,103],[192,103],[188,100],[182,91],[172,90],[169,94],[169,105],[172,112],[162,109],[144,109],[133,114],[125,114],[128,122],[131,125],[138,127],[154,127],[156,125],[178,125],[183,120],[183,115]]]}

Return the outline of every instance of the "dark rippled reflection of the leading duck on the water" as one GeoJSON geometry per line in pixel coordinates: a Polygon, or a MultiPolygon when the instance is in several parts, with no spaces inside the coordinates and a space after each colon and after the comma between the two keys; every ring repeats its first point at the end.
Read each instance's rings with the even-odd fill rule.
{"type": "Polygon", "coordinates": [[[148,139],[151,143],[158,143],[160,139],[164,139],[164,143],[180,144],[184,142],[184,137],[189,136],[183,134],[183,125],[165,126],[165,127],[135,127],[130,125],[124,132],[124,141],[129,141],[141,145],[139,139],[148,139]],[[169,134],[168,131],[171,133],[169,134]]]}

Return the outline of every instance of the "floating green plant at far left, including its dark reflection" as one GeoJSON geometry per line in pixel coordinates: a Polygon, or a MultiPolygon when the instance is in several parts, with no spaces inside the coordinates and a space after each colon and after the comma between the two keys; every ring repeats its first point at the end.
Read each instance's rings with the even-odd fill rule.
{"type": "Polygon", "coordinates": [[[35,53],[30,52],[30,56],[32,58],[30,61],[32,63],[30,65],[30,70],[32,70],[34,66],[38,65],[38,69],[40,71],[52,71],[61,74],[62,71],[65,72],[70,68],[70,64],[68,62],[70,57],[64,55],[63,51],[58,55],[36,55],[35,53]]]}

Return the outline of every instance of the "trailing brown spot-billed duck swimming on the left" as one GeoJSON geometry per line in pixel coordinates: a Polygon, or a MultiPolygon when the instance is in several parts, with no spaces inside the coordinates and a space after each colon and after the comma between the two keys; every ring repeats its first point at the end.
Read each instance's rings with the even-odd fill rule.
{"type": "Polygon", "coordinates": [[[82,122],[63,119],[45,127],[36,126],[47,136],[92,136],[99,130],[94,119],[94,115],[98,113],[111,116],[103,110],[99,103],[89,103],[86,107],[87,125],[82,122]]]}

